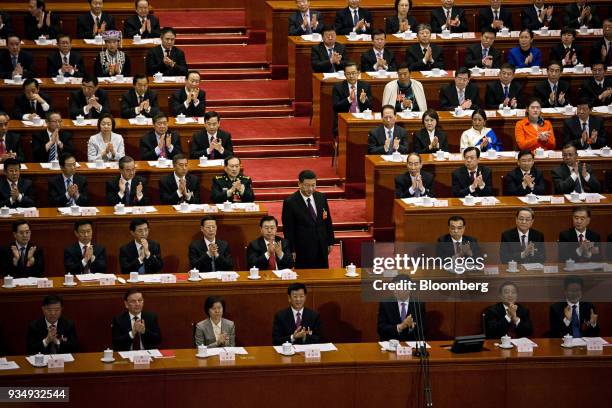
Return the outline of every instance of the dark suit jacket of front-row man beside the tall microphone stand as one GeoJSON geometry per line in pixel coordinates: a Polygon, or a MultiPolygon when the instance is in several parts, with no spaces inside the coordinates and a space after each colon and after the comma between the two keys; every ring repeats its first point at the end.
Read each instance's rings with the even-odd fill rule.
{"type": "MultiPolygon", "coordinates": [[[[426,315],[425,315],[425,303],[423,302],[408,302],[407,316],[412,315],[413,320],[417,326],[421,325],[423,333],[426,333],[426,315]],[[421,316],[419,321],[418,316],[421,316]]],[[[413,329],[403,330],[401,333],[397,332],[397,325],[402,322],[400,317],[400,310],[397,302],[380,302],[378,304],[378,323],[377,331],[378,337],[381,341],[387,341],[396,339],[400,341],[414,341],[416,340],[417,326],[413,329]]],[[[420,329],[419,329],[420,330],[420,329]]]]}

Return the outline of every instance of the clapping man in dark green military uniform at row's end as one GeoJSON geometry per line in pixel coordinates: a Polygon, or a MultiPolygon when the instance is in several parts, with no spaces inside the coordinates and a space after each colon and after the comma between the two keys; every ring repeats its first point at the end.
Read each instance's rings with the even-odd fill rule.
{"type": "Polygon", "coordinates": [[[215,176],[212,184],[211,199],[216,204],[226,201],[232,203],[253,202],[255,195],[251,186],[251,178],[240,175],[240,159],[235,156],[226,157],[225,174],[215,176]]]}

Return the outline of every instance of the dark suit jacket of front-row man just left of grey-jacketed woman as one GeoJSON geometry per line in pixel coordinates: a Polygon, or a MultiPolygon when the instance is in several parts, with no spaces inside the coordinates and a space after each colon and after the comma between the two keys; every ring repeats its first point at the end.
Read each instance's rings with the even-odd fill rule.
{"type": "MultiPolygon", "coordinates": [[[[143,310],[140,318],[144,320],[145,332],[140,336],[140,341],[145,350],[155,349],[161,343],[161,330],[157,323],[157,316],[154,313],[143,310]]],[[[132,349],[132,322],[130,314],[126,310],[119,316],[113,317],[111,323],[113,333],[113,350],[128,351],[132,349]]]]}

